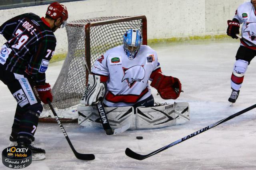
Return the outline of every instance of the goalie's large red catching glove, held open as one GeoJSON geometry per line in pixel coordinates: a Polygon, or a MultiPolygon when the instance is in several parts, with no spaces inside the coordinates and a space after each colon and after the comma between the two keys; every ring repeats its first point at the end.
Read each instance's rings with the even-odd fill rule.
{"type": "Polygon", "coordinates": [[[177,99],[180,96],[181,83],[176,77],[158,72],[150,85],[157,89],[162,99],[177,99]]]}

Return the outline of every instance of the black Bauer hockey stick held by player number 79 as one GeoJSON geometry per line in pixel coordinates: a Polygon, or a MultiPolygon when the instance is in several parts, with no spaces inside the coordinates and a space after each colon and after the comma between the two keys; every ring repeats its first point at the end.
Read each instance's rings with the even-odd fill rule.
{"type": "Polygon", "coordinates": [[[62,124],[59,120],[58,115],[56,114],[54,108],[52,107],[52,103],[50,102],[49,99],[47,99],[47,101],[48,101],[48,105],[50,106],[50,108],[52,110],[53,115],[55,116],[55,119],[56,119],[58,125],[60,126],[64,136],[66,137],[66,140],[68,140],[68,144],[69,144],[70,148],[72,149],[72,151],[74,152],[76,158],[78,158],[80,160],[94,160],[95,159],[94,154],[80,154],[80,153],[76,152],[74,146],[72,145],[70,139],[68,138],[68,134],[66,133],[64,127],[62,126],[62,124]]]}

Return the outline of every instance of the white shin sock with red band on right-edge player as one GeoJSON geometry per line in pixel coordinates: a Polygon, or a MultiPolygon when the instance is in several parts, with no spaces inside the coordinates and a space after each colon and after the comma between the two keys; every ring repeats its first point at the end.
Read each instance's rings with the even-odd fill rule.
{"type": "Polygon", "coordinates": [[[248,67],[248,61],[238,59],[234,64],[234,70],[231,75],[231,88],[238,91],[244,81],[244,73],[248,67]]]}

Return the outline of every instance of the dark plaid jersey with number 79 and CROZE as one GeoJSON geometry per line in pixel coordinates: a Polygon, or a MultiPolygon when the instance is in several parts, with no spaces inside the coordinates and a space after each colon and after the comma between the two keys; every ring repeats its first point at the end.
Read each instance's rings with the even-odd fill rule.
{"type": "Polygon", "coordinates": [[[36,14],[16,16],[0,26],[7,40],[0,51],[0,64],[8,71],[30,75],[44,85],[45,71],[56,47],[49,24],[36,14]]]}

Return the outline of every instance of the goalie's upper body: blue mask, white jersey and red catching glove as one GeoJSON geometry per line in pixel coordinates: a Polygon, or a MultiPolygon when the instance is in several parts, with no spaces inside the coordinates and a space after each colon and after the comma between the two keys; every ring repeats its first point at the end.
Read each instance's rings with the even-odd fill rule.
{"type": "Polygon", "coordinates": [[[128,30],[123,42],[123,45],[106,51],[92,68],[92,74],[100,75],[100,81],[107,85],[104,105],[153,106],[148,80],[163,99],[177,99],[181,92],[179,79],[162,74],[156,51],[141,45],[141,32],[128,30]]]}

